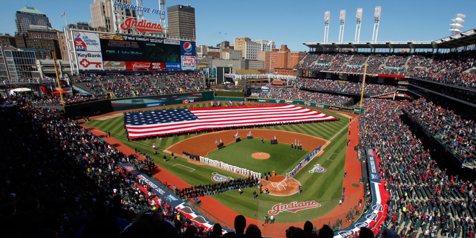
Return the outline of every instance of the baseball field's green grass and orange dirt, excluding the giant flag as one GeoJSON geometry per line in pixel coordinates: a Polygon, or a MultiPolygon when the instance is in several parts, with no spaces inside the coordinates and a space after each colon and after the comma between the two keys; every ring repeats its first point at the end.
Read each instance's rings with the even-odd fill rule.
{"type": "MultiPolygon", "coordinates": [[[[161,109],[208,107],[208,105],[208,103],[186,104],[161,109]]],[[[159,169],[169,171],[188,185],[215,183],[212,177],[217,174],[220,175],[220,178],[231,177],[237,179],[238,177],[244,177],[185,159],[181,156],[183,151],[260,172],[263,174],[263,188],[269,188],[273,191],[269,195],[264,192],[259,193],[258,187],[253,187],[243,189],[241,194],[238,190],[234,190],[210,197],[234,212],[257,222],[262,222],[266,214],[268,216],[274,214],[275,223],[298,223],[306,220],[316,220],[333,210],[338,210],[339,199],[342,195],[347,150],[347,124],[352,116],[337,111],[313,109],[340,120],[251,129],[253,139],[246,138],[249,129],[240,129],[201,134],[191,133],[189,135],[142,141],[128,141],[126,139],[126,131],[123,127],[124,118],[120,114],[115,115],[115,117],[97,118],[85,122],[85,124],[94,127],[95,130],[110,132],[114,139],[131,149],[137,147],[141,152],[146,152],[159,166],[159,169]],[[237,131],[242,141],[235,142],[233,134],[237,131]],[[274,136],[276,136],[278,144],[272,145],[270,139],[274,136]],[[220,140],[224,142],[225,147],[217,149],[215,141],[220,140]],[[291,143],[295,143],[297,140],[302,144],[303,149],[291,148],[291,143]],[[153,153],[153,143],[160,149],[157,155],[153,153]],[[318,146],[323,146],[322,151],[288,182],[283,181],[286,172],[294,168],[299,161],[318,146]],[[170,159],[171,152],[177,155],[175,159],[170,159]],[[164,155],[167,156],[167,161],[163,160],[164,155]],[[318,169],[317,164],[320,165],[318,169]],[[268,171],[276,171],[278,176],[265,181],[264,173],[268,171]],[[297,186],[299,185],[302,188],[300,193],[297,192],[297,186]],[[258,192],[257,198],[253,198],[254,190],[258,192]],[[300,202],[304,203],[299,205],[300,202]],[[314,205],[299,209],[299,206],[302,207],[303,204],[306,204],[305,202],[308,202],[307,205],[314,205]],[[293,207],[297,207],[297,209],[293,209],[293,207]]],[[[167,178],[159,179],[167,180],[167,178]]],[[[178,188],[181,188],[181,186],[178,186],[178,188]]],[[[347,212],[348,210],[342,210],[338,211],[338,214],[346,214],[347,212]]],[[[221,214],[219,211],[211,212],[211,214],[218,218],[226,216],[226,214],[221,214]]]]}

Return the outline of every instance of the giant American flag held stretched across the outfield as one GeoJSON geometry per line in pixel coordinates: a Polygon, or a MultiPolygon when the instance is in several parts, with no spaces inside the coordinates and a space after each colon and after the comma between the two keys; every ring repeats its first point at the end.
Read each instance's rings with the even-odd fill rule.
{"type": "Polygon", "coordinates": [[[130,139],[231,126],[332,119],[336,118],[290,104],[156,110],[126,113],[124,117],[130,139]]]}

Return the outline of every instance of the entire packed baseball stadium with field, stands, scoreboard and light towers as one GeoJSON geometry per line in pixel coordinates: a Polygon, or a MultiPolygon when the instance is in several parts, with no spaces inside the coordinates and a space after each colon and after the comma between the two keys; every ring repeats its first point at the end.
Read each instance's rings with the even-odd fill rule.
{"type": "Polygon", "coordinates": [[[476,29],[239,74],[126,21],[2,76],[4,237],[474,238],[476,29]]]}

